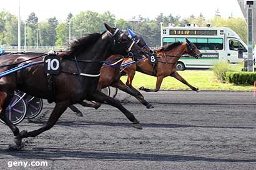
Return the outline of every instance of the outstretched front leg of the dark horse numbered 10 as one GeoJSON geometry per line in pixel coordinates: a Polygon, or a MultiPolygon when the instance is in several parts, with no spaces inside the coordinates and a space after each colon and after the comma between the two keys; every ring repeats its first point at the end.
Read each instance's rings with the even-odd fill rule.
{"type": "Polygon", "coordinates": [[[122,111],[122,113],[124,113],[124,115],[126,115],[126,117],[130,121],[132,121],[132,126],[134,128],[137,128],[139,130],[142,129],[139,121],[135,118],[135,116],[132,113],[130,113],[130,111],[128,111],[126,108],[124,108],[124,106],[122,106],[122,104],[119,102],[119,100],[109,97],[109,96],[105,95],[104,93],[100,92],[99,90],[95,90],[94,93],[91,94],[90,100],[93,100],[93,101],[96,101],[99,103],[105,103],[107,105],[111,105],[111,106],[118,108],[120,111],[122,111]]]}

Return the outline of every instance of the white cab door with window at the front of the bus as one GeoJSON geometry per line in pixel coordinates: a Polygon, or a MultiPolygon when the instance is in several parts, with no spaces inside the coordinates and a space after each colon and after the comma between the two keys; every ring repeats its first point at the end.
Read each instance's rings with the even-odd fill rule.
{"type": "Polygon", "coordinates": [[[245,46],[237,39],[228,39],[228,47],[227,47],[227,60],[230,63],[236,64],[237,62],[242,62],[244,59],[239,59],[238,52],[239,49],[244,49],[244,57],[247,57],[247,49],[245,46]]]}

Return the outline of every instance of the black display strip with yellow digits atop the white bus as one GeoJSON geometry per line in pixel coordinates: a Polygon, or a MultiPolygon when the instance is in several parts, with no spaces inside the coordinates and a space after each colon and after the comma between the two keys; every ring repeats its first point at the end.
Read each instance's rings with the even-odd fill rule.
{"type": "Polygon", "coordinates": [[[217,35],[217,30],[177,30],[170,29],[170,35],[217,35]]]}

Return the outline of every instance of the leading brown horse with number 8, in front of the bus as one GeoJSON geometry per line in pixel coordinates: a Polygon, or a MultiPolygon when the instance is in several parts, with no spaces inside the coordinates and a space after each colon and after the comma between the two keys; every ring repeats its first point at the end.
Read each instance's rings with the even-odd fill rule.
{"type": "MultiPolygon", "coordinates": [[[[190,85],[184,78],[182,78],[176,70],[177,61],[180,57],[184,54],[192,55],[193,57],[199,59],[202,57],[199,49],[186,39],[186,42],[174,42],[172,44],[167,44],[164,47],[160,48],[159,50],[154,51],[157,56],[157,64],[155,67],[152,66],[149,62],[149,58],[145,60],[141,60],[136,62],[135,64],[129,65],[124,69],[124,72],[127,73],[127,81],[126,85],[135,90],[132,87],[132,80],[135,75],[135,71],[139,71],[145,73],[147,75],[152,75],[157,77],[157,82],[155,85],[155,89],[148,89],[144,87],[140,87],[140,90],[144,90],[145,92],[157,92],[160,89],[162,80],[165,77],[171,76],[179,80],[180,82],[184,83],[185,85],[189,86],[192,90],[199,92],[199,88],[195,88],[190,85]]],[[[128,62],[130,59],[124,59],[123,63],[128,62]]]]}

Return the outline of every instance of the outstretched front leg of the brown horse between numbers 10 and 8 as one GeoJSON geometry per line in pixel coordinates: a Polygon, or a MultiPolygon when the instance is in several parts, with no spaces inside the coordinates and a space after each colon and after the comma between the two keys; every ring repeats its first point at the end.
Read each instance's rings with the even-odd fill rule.
{"type": "Polygon", "coordinates": [[[132,95],[133,97],[137,98],[142,105],[147,106],[147,108],[154,108],[149,102],[144,100],[144,97],[135,89],[127,87],[121,80],[116,82],[113,87],[117,87],[120,90],[128,93],[129,95],[132,95]]]}

